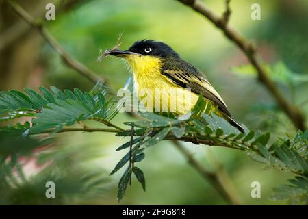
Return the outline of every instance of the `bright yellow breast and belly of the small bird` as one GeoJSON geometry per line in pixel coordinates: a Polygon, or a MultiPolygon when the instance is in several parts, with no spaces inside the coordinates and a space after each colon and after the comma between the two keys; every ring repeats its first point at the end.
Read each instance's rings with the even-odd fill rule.
{"type": "Polygon", "coordinates": [[[133,72],[134,91],[149,111],[183,115],[195,105],[198,95],[162,75],[162,62],[158,57],[129,55],[126,60],[133,72]]]}

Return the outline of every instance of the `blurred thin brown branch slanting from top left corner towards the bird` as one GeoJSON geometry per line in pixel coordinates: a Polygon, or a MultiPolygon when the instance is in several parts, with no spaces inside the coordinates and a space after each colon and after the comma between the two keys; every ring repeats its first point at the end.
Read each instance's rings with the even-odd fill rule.
{"type": "Polygon", "coordinates": [[[31,17],[31,15],[28,14],[23,8],[21,8],[21,6],[18,5],[18,3],[10,0],[6,0],[6,2],[8,3],[8,5],[12,7],[12,9],[19,16],[21,16],[21,18],[23,18],[24,21],[26,21],[34,29],[38,30],[40,35],[42,35],[42,37],[51,45],[51,47],[53,47],[53,49],[55,49],[55,51],[57,51],[57,53],[60,54],[64,62],[66,62],[66,64],[68,64],[70,68],[77,70],[78,73],[80,73],[93,83],[96,83],[99,80],[105,81],[105,79],[97,76],[96,73],[89,70],[86,66],[84,66],[84,64],[81,64],[73,57],[68,55],[68,53],[66,53],[66,51],[61,47],[61,45],[57,42],[57,40],[53,38],[53,36],[49,33],[49,31],[43,27],[42,23],[34,21],[34,18],[31,17]]]}

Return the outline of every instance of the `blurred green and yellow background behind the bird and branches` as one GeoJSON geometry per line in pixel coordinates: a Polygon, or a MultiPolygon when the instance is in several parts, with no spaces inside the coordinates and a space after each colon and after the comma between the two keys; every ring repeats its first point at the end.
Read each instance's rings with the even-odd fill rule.
{"type": "MultiPolygon", "coordinates": [[[[233,116],[250,129],[270,131],[272,138],[296,133],[267,90],[251,73],[244,55],[201,15],[172,0],[17,1],[29,14],[44,21],[45,5],[55,3],[55,21],[44,21],[61,46],[76,60],[108,79],[118,90],[129,77],[125,64],[114,57],[97,62],[100,49],[110,49],[123,33],[122,49],[136,40],[153,39],[169,44],[183,59],[207,75],[229,106],[233,116]]],[[[224,1],[206,0],[221,14],[224,1]]],[[[0,1],[0,90],[38,86],[90,90],[92,83],[62,62],[53,48],[9,7],[0,1]]],[[[286,99],[308,114],[308,1],[231,1],[230,23],[246,38],[256,42],[261,57],[278,66],[273,79],[286,99]],[[261,21],[251,20],[251,5],[261,5],[261,21]],[[283,66],[283,67],[281,67],[283,66]],[[281,70],[282,69],[282,70],[281,70]],[[277,70],[279,71],[279,70],[277,70]],[[291,75],[291,77],[289,77],[291,75]],[[296,79],[294,79],[296,78],[296,79]]],[[[273,68],[274,68],[273,67],[273,68]]],[[[118,114],[114,123],[132,120],[118,114]]],[[[97,123],[86,125],[99,126],[97,123]]],[[[120,173],[109,177],[122,152],[115,151],[128,139],[110,133],[69,133],[55,137],[53,148],[36,151],[21,167],[27,183],[18,189],[0,190],[2,204],[94,204],[94,205],[223,205],[227,204],[177,149],[161,142],[146,151],[140,164],[146,177],[146,192],[133,179],[123,201],[116,200],[120,173]],[[46,153],[46,156],[42,156],[46,153]],[[53,167],[44,170],[40,159],[53,156],[53,167]],[[39,157],[40,159],[36,159],[39,157]],[[56,157],[56,158],[55,158],[56,157]],[[96,187],[80,188],[86,174],[95,173],[96,187]],[[44,197],[44,182],[56,182],[54,199],[44,197]],[[5,194],[5,196],[1,196],[5,194]]],[[[185,143],[194,157],[209,170],[219,162],[242,204],[283,205],[272,201],[272,188],[285,183],[291,174],[264,170],[244,152],[185,143]],[[261,198],[251,198],[251,183],[261,183],[261,198]]]]}

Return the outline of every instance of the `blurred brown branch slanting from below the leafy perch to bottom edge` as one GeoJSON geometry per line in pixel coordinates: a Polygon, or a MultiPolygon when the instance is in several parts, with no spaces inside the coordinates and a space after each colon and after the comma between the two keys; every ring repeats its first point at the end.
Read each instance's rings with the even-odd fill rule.
{"type": "Polygon", "coordinates": [[[190,151],[185,149],[185,147],[181,143],[179,143],[178,141],[172,141],[172,142],[174,143],[175,147],[177,147],[177,149],[179,149],[179,151],[188,159],[188,162],[190,163],[190,165],[204,179],[209,181],[209,183],[211,183],[211,185],[217,190],[217,192],[225,200],[227,200],[232,205],[240,205],[240,201],[238,201],[238,198],[231,195],[229,188],[227,188],[227,186],[225,186],[224,183],[220,181],[220,178],[215,172],[209,172],[206,168],[204,168],[201,163],[199,163],[196,159],[194,159],[194,156],[192,155],[192,153],[190,153],[190,151]]]}

